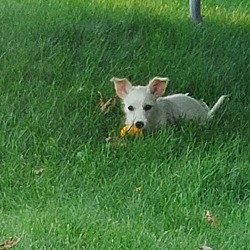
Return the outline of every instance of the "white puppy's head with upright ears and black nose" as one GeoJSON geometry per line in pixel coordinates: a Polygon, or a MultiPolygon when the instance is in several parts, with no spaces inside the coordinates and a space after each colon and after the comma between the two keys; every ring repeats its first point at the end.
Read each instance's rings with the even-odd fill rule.
{"type": "Polygon", "coordinates": [[[168,78],[155,77],[147,86],[133,86],[127,79],[113,77],[116,94],[121,98],[126,125],[139,129],[150,126],[149,119],[156,111],[156,100],[165,93],[168,78]]]}

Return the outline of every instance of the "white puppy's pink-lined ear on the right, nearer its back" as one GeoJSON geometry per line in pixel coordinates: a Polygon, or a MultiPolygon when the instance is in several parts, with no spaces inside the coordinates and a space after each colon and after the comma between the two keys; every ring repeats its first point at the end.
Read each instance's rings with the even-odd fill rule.
{"type": "Polygon", "coordinates": [[[148,90],[156,97],[163,96],[169,79],[167,77],[155,77],[148,84],[148,90]]]}

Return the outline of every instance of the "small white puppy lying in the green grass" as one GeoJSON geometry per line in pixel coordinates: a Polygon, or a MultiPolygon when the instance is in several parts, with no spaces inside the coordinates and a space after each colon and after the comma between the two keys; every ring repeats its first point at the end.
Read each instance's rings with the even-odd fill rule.
{"type": "Polygon", "coordinates": [[[205,122],[213,117],[227,95],[222,95],[210,110],[202,101],[187,94],[164,95],[168,78],[155,77],[147,86],[132,86],[127,79],[113,77],[116,94],[124,104],[125,125],[152,129],[174,124],[180,119],[205,122]]]}

